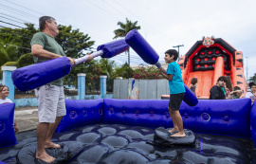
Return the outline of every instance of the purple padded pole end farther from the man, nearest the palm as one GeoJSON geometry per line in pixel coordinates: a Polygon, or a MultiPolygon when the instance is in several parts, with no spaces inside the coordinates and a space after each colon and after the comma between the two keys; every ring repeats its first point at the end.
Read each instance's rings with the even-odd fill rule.
{"type": "Polygon", "coordinates": [[[129,45],[124,41],[124,39],[119,39],[117,41],[113,41],[101,46],[97,47],[97,51],[102,50],[103,55],[102,58],[112,58],[119,53],[122,53],[128,50],[129,45]]]}

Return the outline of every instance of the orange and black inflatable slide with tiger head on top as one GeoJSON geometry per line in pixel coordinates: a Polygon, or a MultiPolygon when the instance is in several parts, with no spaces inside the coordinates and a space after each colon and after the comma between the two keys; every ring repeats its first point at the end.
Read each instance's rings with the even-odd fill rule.
{"type": "Polygon", "coordinates": [[[242,89],[242,96],[247,93],[243,53],[221,38],[203,37],[180,57],[178,64],[185,84],[190,86],[192,78],[197,78],[199,87],[195,92],[199,99],[209,99],[210,88],[220,76],[229,76],[233,87],[242,89]]]}

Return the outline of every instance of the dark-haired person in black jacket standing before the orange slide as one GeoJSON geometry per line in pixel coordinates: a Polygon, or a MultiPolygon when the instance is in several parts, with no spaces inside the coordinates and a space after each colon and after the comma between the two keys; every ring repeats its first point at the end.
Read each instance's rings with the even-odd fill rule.
{"type": "Polygon", "coordinates": [[[225,76],[219,77],[217,84],[210,89],[210,100],[226,100],[226,96],[222,90],[227,79],[225,76]]]}

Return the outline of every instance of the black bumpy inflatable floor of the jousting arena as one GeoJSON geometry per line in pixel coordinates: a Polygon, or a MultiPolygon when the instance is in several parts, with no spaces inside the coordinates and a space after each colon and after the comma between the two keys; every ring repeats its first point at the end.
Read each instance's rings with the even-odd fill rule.
{"type": "MultiPolygon", "coordinates": [[[[188,134],[189,131],[185,132],[188,134]]],[[[173,144],[173,147],[163,147],[154,144],[155,129],[120,124],[94,124],[61,134],[55,133],[52,142],[63,147],[56,150],[47,149],[47,153],[56,157],[53,162],[55,164],[256,163],[256,150],[251,139],[195,133],[194,135],[194,146],[173,144]]],[[[18,133],[16,138],[18,144],[0,149],[0,163],[46,163],[34,158],[36,131],[18,133]]]]}

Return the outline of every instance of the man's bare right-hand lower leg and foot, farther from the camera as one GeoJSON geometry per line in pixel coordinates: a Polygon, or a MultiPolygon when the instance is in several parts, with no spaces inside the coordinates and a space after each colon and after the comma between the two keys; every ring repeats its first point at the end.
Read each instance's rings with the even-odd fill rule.
{"type": "Polygon", "coordinates": [[[61,146],[59,144],[51,142],[51,137],[53,136],[54,131],[58,127],[58,125],[61,122],[62,118],[64,118],[64,117],[57,117],[55,119],[54,123],[50,123],[49,124],[49,128],[48,128],[48,131],[47,131],[47,136],[46,136],[45,148],[54,148],[54,149],[61,148],[61,146]]]}

